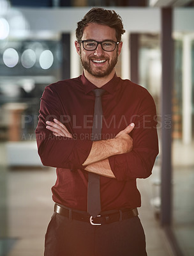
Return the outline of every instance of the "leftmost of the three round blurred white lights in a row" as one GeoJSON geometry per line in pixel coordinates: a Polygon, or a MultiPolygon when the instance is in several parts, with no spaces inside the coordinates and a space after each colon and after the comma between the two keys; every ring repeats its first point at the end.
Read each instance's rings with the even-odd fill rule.
{"type": "Polygon", "coordinates": [[[7,67],[13,68],[19,61],[19,54],[15,49],[8,48],[3,52],[3,61],[7,67]]]}

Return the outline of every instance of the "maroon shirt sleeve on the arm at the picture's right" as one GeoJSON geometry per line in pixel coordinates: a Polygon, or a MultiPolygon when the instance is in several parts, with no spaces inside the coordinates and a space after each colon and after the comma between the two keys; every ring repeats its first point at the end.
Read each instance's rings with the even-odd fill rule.
{"type": "Polygon", "coordinates": [[[140,102],[135,116],[135,128],[130,133],[133,138],[133,150],[108,158],[117,180],[149,177],[158,155],[156,107],[149,93],[140,102]]]}

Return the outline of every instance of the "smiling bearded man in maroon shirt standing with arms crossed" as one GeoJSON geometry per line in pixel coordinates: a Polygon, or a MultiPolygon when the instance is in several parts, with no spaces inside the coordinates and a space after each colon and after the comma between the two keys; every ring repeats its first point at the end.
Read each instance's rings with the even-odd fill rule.
{"type": "Polygon", "coordinates": [[[44,165],[57,168],[45,256],[147,255],[136,179],[151,175],[158,154],[156,109],[145,88],[116,76],[123,33],[116,12],[91,9],[76,30],[82,76],[50,84],[41,98],[38,152],[44,165]],[[93,139],[96,90],[100,140],[93,139]],[[100,177],[101,207],[94,216],[88,206],[93,173],[100,177]]]}

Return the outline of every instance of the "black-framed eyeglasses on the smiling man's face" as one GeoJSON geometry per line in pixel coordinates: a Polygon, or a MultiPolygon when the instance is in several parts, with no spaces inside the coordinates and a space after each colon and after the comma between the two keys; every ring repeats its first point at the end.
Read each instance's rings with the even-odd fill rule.
{"type": "Polygon", "coordinates": [[[98,45],[101,45],[103,51],[112,52],[116,49],[116,46],[119,42],[114,42],[112,40],[104,40],[101,42],[95,40],[82,40],[80,43],[83,44],[83,47],[86,51],[95,51],[98,45]]]}

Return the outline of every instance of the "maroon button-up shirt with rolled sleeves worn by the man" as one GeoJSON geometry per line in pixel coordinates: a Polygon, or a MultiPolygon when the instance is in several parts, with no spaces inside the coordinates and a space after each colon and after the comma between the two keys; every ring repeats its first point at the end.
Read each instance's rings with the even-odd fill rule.
{"type": "MultiPolygon", "coordinates": [[[[50,84],[41,97],[40,116],[36,128],[38,153],[45,166],[57,168],[53,200],[67,207],[87,211],[87,172],[82,163],[91,150],[94,95],[96,86],[84,74],[50,84]],[[45,122],[57,118],[73,138],[55,137],[45,122]]],[[[116,179],[100,177],[101,209],[140,207],[136,179],[151,175],[158,154],[156,108],[145,88],[116,74],[101,88],[103,125],[101,140],[114,138],[131,122],[135,128],[133,150],[108,158],[116,179]]]]}

